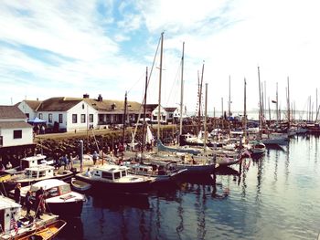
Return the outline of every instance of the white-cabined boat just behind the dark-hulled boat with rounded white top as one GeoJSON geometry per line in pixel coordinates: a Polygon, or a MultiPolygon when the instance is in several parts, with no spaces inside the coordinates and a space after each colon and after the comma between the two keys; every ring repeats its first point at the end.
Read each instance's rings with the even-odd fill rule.
{"type": "Polygon", "coordinates": [[[48,166],[47,164],[41,164],[34,167],[27,168],[24,172],[18,172],[11,175],[9,178],[3,181],[6,191],[10,191],[15,188],[17,183],[21,186],[27,186],[33,183],[37,183],[46,179],[60,179],[63,181],[70,181],[73,172],[69,170],[55,171],[55,168],[48,166]]]}

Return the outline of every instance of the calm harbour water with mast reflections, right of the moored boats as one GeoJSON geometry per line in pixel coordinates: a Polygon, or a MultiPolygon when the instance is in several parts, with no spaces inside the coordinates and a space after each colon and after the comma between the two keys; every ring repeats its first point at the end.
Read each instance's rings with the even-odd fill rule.
{"type": "Polygon", "coordinates": [[[205,177],[145,196],[89,193],[57,239],[316,239],[319,145],[318,136],[295,137],[216,184],[205,177]]]}

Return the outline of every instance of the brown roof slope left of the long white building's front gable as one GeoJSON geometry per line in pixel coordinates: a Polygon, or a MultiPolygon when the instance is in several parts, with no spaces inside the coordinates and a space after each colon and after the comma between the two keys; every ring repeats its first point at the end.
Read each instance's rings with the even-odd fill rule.
{"type": "Polygon", "coordinates": [[[67,111],[80,103],[81,100],[64,97],[46,99],[42,101],[37,111],[67,111]]]}

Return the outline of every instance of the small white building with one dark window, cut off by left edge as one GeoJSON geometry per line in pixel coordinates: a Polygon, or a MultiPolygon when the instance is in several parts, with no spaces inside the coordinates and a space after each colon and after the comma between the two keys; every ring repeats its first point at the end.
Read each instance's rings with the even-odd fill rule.
{"type": "Polygon", "coordinates": [[[0,148],[33,144],[32,126],[16,106],[0,106],[0,148]]]}

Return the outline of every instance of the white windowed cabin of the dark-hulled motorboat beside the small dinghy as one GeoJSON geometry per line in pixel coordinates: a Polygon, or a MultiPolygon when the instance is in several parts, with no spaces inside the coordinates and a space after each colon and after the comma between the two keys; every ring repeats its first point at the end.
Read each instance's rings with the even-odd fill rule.
{"type": "Polygon", "coordinates": [[[92,178],[102,178],[115,181],[128,175],[128,168],[118,165],[102,165],[92,170],[92,178]]]}

